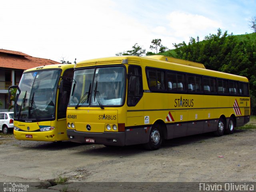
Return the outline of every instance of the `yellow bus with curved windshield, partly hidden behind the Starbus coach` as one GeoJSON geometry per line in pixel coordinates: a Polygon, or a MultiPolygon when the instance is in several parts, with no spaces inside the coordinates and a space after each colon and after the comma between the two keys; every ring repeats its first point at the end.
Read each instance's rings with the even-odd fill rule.
{"type": "Polygon", "coordinates": [[[74,64],[31,68],[22,74],[14,102],[14,136],[18,140],[62,141],[74,64]]]}

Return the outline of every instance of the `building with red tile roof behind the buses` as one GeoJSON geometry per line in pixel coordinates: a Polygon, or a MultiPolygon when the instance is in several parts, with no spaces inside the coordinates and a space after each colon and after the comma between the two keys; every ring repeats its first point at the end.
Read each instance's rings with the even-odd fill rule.
{"type": "Polygon", "coordinates": [[[24,70],[51,64],[60,63],[50,59],[32,57],[18,51],[0,49],[0,101],[2,102],[0,110],[7,109],[10,105],[8,87],[19,84],[24,70]]]}

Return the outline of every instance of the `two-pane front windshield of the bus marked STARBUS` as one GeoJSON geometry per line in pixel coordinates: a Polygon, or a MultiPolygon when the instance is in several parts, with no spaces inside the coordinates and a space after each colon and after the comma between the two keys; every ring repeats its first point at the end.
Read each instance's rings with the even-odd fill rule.
{"type": "Polygon", "coordinates": [[[124,102],[125,68],[100,67],[74,71],[70,106],[120,106],[124,102]]]}

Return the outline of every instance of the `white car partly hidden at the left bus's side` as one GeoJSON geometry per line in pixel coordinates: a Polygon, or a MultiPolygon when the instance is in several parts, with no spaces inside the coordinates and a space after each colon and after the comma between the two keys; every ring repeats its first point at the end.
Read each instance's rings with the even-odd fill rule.
{"type": "Polygon", "coordinates": [[[0,130],[3,134],[13,130],[13,116],[14,112],[0,112],[0,130]]]}

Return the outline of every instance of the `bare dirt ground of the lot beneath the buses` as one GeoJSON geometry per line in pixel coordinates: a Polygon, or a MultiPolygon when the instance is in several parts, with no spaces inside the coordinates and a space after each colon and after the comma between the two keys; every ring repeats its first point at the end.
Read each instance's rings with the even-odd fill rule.
{"type": "Polygon", "coordinates": [[[168,140],[155,151],[0,137],[0,182],[256,182],[256,130],[168,140]]]}

